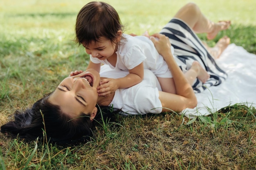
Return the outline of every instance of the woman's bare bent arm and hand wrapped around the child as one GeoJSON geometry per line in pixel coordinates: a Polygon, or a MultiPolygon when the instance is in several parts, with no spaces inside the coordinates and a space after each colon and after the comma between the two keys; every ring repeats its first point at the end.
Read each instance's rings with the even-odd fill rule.
{"type": "Polygon", "coordinates": [[[162,112],[169,111],[168,109],[182,111],[186,108],[194,108],[197,105],[195,93],[173,58],[170,40],[165,35],[159,33],[152,35],[150,39],[155,44],[155,48],[159,54],[164,57],[164,60],[171,70],[176,88],[176,94],[159,92],[159,99],[163,107],[162,112]],[[155,37],[159,40],[155,39],[155,37]]]}

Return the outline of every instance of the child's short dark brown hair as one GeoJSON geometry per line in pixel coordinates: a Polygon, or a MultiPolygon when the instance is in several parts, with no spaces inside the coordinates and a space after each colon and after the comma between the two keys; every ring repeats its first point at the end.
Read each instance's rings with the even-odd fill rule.
{"type": "Polygon", "coordinates": [[[76,42],[86,46],[99,42],[101,37],[115,43],[123,31],[123,25],[117,11],[105,2],[89,2],[78,13],[76,18],[76,42]]]}

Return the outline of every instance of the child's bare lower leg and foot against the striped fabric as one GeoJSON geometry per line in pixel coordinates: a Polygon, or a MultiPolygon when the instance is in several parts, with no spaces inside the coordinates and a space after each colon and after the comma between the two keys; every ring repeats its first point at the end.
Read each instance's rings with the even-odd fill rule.
{"type": "Polygon", "coordinates": [[[184,74],[184,76],[189,81],[190,85],[193,85],[195,78],[198,78],[203,83],[205,83],[210,78],[210,75],[202,67],[202,65],[198,63],[198,61],[194,61],[192,63],[191,68],[184,74]]]}

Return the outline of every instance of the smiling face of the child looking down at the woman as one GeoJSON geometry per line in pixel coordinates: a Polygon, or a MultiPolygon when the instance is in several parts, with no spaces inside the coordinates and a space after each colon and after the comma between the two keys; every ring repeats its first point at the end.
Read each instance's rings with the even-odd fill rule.
{"type": "Polygon", "coordinates": [[[97,57],[100,60],[108,59],[117,52],[117,44],[113,44],[109,39],[102,37],[98,42],[92,42],[88,46],[82,43],[87,54],[97,57]]]}

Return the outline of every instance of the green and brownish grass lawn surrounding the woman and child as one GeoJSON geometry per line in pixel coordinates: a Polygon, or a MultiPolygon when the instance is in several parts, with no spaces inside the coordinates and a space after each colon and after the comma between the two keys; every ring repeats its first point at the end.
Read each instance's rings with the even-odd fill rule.
{"type": "MultiPolygon", "coordinates": [[[[76,14],[89,1],[0,1],[0,125],[31,106],[89,57],[74,39],[76,14]]],[[[108,0],[126,33],[158,32],[187,0],[108,0]]],[[[256,1],[194,0],[213,21],[231,20],[231,43],[256,54],[256,1]]],[[[189,120],[175,113],[117,117],[92,142],[57,146],[0,134],[0,169],[256,169],[255,109],[223,108],[189,120]]]]}

